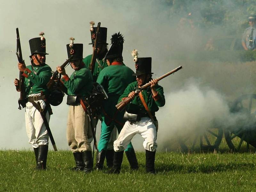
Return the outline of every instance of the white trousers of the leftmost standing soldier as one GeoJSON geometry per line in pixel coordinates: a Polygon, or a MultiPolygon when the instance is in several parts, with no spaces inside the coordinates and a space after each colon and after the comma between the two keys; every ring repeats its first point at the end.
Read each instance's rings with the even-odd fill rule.
{"type": "MultiPolygon", "coordinates": [[[[31,94],[31,96],[40,94],[31,94]]],[[[37,102],[37,101],[36,101],[37,102]]],[[[45,108],[44,100],[39,100],[41,107],[45,108]]],[[[49,123],[50,115],[46,113],[46,119],[49,123]]],[[[26,121],[26,131],[29,138],[29,143],[33,148],[37,148],[38,145],[48,145],[49,135],[44,125],[44,121],[39,111],[32,105],[32,103],[27,102],[25,108],[25,121],[26,121]]]]}

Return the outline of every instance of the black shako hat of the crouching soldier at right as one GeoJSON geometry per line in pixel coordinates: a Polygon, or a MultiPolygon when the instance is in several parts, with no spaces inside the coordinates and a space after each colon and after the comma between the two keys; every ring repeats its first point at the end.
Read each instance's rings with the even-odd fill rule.
{"type": "Polygon", "coordinates": [[[133,76],[139,76],[143,74],[153,74],[151,73],[151,57],[139,57],[135,63],[136,73],[133,76]]]}

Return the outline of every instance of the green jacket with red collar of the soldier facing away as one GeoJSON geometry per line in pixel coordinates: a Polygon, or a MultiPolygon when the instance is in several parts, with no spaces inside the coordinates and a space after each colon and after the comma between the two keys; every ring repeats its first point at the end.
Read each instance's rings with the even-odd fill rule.
{"type": "Polygon", "coordinates": [[[135,76],[132,74],[132,69],[124,65],[110,65],[100,72],[97,83],[101,84],[108,94],[108,100],[103,104],[103,110],[107,115],[102,113],[102,119],[106,124],[110,124],[113,119],[124,123],[124,113],[118,112],[116,103],[125,87],[134,81],[135,76]]]}

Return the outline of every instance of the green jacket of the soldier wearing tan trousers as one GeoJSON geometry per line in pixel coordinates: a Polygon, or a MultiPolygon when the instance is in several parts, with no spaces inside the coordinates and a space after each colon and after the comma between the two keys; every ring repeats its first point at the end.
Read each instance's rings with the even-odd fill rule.
{"type": "Polygon", "coordinates": [[[92,92],[92,73],[84,64],[70,78],[65,75],[60,80],[67,87],[68,95],[88,97],[92,92]]]}

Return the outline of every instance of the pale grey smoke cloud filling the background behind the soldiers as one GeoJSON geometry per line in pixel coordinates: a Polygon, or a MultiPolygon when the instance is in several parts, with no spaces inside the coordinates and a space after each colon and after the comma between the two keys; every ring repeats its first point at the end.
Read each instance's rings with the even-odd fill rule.
{"type": "MultiPolygon", "coordinates": [[[[177,9],[179,12],[174,10],[179,1],[174,0],[10,0],[2,3],[0,148],[31,148],[26,135],[24,109],[17,109],[19,93],[13,85],[14,78],[19,74],[15,55],[16,27],[20,30],[23,59],[27,65],[30,55],[28,40],[37,37],[40,31],[45,33],[46,52],[49,53],[46,63],[52,70],[67,59],[66,44],[69,44],[71,36],[76,39],[74,43],[84,44],[84,57],[91,54],[92,47],[88,45],[91,41],[91,20],[96,24],[101,22],[102,27],[108,28],[108,43],[113,33],[120,31],[124,35],[124,63],[133,70],[133,49],[139,50],[139,57],[152,57],[153,78],[182,65],[182,70],[159,83],[164,87],[166,97],[166,105],[156,113],[159,120],[157,142],[161,150],[172,146],[172,139],[178,131],[182,136],[193,129],[213,126],[216,121],[225,126],[230,124],[233,117],[230,117],[229,102],[241,94],[255,92],[255,62],[222,62],[220,56],[229,58],[230,55],[224,53],[223,56],[221,50],[231,47],[230,42],[234,38],[230,41],[229,38],[220,37],[241,36],[240,32],[234,34],[234,30],[239,31],[239,24],[246,19],[246,7],[240,9],[233,1],[223,0],[221,5],[216,4],[209,10],[205,2],[193,1],[188,8],[177,9]],[[224,6],[226,11],[220,12],[219,6],[224,6]],[[218,22],[215,18],[216,14],[223,14],[224,17],[234,10],[236,14],[227,17],[229,20],[226,23],[218,22]],[[206,26],[207,22],[201,22],[206,17],[208,24],[214,23],[211,27],[206,26]],[[228,22],[234,23],[228,28],[231,31],[225,29],[228,22]],[[202,26],[200,23],[206,24],[202,26]]],[[[246,23],[244,27],[247,27],[246,23]]],[[[241,42],[240,39],[237,41],[241,42]]],[[[68,68],[66,71],[71,74],[72,70],[68,68]]],[[[60,106],[53,107],[54,114],[50,120],[52,134],[59,149],[68,149],[68,106],[65,100],[66,96],[60,106]]],[[[99,130],[100,123],[97,138],[99,130]]],[[[135,150],[143,150],[139,136],[134,137],[132,142],[135,150]]]]}

